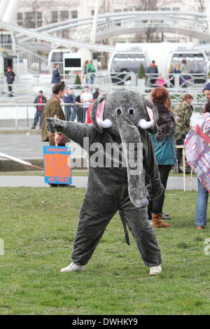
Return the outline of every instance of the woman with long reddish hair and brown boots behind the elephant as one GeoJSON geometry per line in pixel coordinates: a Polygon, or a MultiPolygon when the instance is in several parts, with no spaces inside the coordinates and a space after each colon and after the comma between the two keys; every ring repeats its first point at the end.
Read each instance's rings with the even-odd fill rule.
{"type": "MultiPolygon", "coordinates": [[[[151,91],[151,101],[158,109],[158,132],[151,134],[155,155],[158,162],[162,185],[167,187],[167,180],[172,166],[176,165],[176,141],[174,139],[175,119],[172,112],[172,102],[165,87],[156,87],[151,91]]],[[[162,222],[162,207],[165,200],[165,190],[160,197],[150,202],[149,218],[153,228],[168,228],[170,225],[162,222]]]]}

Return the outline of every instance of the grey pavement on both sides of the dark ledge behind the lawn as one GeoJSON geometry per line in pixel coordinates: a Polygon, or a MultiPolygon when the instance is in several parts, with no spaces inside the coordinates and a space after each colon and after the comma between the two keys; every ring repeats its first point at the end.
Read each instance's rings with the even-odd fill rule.
{"type": "MultiPolygon", "coordinates": [[[[41,141],[40,134],[1,134],[0,151],[17,157],[20,159],[43,159],[43,146],[48,145],[48,142],[41,141]]],[[[73,158],[85,158],[86,153],[78,146],[78,144],[71,141],[71,154],[73,158]]],[[[0,160],[3,158],[0,158],[0,160]]],[[[75,173],[76,175],[76,173],[75,173]]],[[[72,184],[78,188],[85,188],[87,186],[86,176],[73,176],[72,184]]],[[[48,187],[45,184],[42,176],[0,176],[0,187],[48,187]]],[[[178,176],[169,177],[168,190],[183,190],[183,178],[178,176]]],[[[190,182],[186,182],[186,190],[190,190],[190,182]]],[[[193,190],[197,190],[197,179],[193,177],[193,190]]]]}

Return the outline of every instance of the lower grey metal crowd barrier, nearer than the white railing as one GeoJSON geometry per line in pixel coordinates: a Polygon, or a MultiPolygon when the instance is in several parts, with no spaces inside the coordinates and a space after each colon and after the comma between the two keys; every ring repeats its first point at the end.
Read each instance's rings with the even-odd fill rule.
{"type": "MultiPolygon", "coordinates": [[[[172,106],[175,107],[179,102],[172,102],[172,106]]],[[[45,105],[45,104],[43,104],[45,105]]],[[[85,123],[87,108],[83,108],[83,104],[80,106],[75,106],[71,103],[62,103],[62,109],[65,116],[66,111],[69,111],[69,119],[72,119],[76,122],[85,123]],[[72,111],[71,111],[72,110],[72,111]]],[[[193,125],[202,109],[204,103],[193,103],[193,115],[190,119],[191,125],[193,125]]],[[[39,104],[41,106],[41,104],[39,104]]],[[[29,129],[33,126],[34,117],[36,115],[36,106],[34,104],[3,104],[0,103],[0,129],[29,129]]]]}

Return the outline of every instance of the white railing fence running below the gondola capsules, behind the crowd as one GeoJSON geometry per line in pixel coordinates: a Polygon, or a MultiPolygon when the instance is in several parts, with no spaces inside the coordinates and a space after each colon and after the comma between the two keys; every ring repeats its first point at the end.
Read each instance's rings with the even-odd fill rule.
{"type": "MultiPolygon", "coordinates": [[[[90,87],[90,90],[94,90],[99,87],[101,92],[111,92],[120,86],[128,87],[133,90],[138,90],[141,94],[145,94],[151,91],[154,87],[166,87],[170,93],[183,94],[188,92],[190,94],[202,94],[204,84],[207,83],[207,74],[204,73],[188,73],[188,76],[182,76],[181,74],[170,73],[167,76],[161,76],[161,74],[148,74],[146,78],[137,79],[137,75],[133,72],[107,72],[98,71],[91,73],[81,80],[81,85],[76,85],[76,74],[71,73],[65,76],[64,81],[66,87],[74,87],[75,89],[82,89],[85,85],[90,87]]],[[[13,94],[16,97],[22,97],[27,95],[35,95],[38,90],[43,90],[46,97],[52,94],[52,76],[50,74],[40,75],[26,75],[15,78],[13,83],[13,94]]],[[[0,77],[0,99],[8,97],[8,84],[6,78],[0,77]]],[[[200,102],[199,99],[194,99],[195,102],[200,102]]]]}

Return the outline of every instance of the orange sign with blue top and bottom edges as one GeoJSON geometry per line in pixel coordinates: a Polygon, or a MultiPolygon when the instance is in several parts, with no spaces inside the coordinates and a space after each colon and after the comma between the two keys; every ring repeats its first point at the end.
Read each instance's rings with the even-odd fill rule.
{"type": "Polygon", "coordinates": [[[71,151],[67,146],[43,146],[45,183],[71,184],[71,151]]]}

